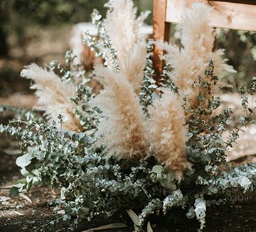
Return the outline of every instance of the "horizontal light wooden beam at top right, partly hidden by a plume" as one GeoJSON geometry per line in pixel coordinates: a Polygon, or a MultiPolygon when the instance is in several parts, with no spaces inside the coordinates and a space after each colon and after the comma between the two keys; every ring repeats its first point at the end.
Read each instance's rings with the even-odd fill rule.
{"type": "Polygon", "coordinates": [[[184,9],[198,2],[213,6],[211,17],[213,27],[256,31],[256,0],[167,0],[166,22],[177,23],[184,9]]]}

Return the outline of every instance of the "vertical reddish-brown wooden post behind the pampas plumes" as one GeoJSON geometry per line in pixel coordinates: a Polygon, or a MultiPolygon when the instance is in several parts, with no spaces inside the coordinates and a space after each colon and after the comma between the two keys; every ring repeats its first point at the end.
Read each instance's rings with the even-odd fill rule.
{"type": "MultiPolygon", "coordinates": [[[[154,0],[153,12],[153,38],[154,40],[168,41],[170,32],[170,23],[166,23],[166,6],[167,0],[154,0]]],[[[160,79],[161,71],[163,69],[163,61],[160,55],[163,51],[154,45],[153,64],[156,71],[156,80],[160,79]]]]}

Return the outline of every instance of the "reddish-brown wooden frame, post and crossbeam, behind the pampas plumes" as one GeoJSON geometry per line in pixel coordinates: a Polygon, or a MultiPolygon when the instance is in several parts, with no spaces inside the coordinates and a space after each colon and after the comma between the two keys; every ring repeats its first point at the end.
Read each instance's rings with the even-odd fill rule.
{"type": "MultiPolygon", "coordinates": [[[[153,38],[169,41],[171,23],[178,20],[186,7],[196,2],[213,6],[211,25],[218,28],[256,31],[256,0],[154,0],[153,38]]],[[[163,62],[159,55],[163,51],[154,47],[154,68],[159,79],[163,62]]]]}

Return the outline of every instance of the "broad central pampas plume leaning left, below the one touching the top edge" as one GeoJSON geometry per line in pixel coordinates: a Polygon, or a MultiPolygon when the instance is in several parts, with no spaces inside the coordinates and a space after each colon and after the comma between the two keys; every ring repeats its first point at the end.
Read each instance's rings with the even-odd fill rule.
{"type": "Polygon", "coordinates": [[[107,157],[139,159],[147,155],[146,129],[139,99],[131,84],[115,72],[99,65],[95,67],[97,80],[104,89],[92,101],[102,110],[97,136],[108,151],[107,157]]]}

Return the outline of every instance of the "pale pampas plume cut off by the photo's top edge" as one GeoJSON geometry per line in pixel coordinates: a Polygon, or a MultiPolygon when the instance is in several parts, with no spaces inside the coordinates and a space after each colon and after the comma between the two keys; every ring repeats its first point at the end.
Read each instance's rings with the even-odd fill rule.
{"type": "Polygon", "coordinates": [[[136,16],[132,0],[110,0],[105,18],[105,29],[117,51],[120,70],[139,94],[146,65],[146,43],[142,25],[149,11],[136,16]],[[125,16],[125,17],[124,17],[125,16]]]}

